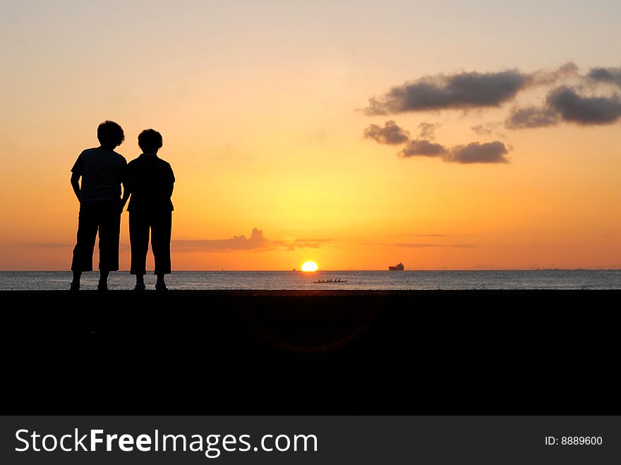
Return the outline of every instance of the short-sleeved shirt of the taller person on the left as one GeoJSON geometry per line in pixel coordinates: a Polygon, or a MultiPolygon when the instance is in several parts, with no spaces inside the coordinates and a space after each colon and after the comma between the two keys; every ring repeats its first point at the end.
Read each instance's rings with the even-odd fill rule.
{"type": "Polygon", "coordinates": [[[126,159],[114,150],[86,149],[71,168],[82,176],[80,203],[106,203],[121,198],[121,182],[127,167],[126,159]]]}

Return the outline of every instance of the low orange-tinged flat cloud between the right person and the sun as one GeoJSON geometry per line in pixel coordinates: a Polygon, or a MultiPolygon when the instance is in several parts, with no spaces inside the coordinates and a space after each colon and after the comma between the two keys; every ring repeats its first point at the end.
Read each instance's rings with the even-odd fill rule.
{"type": "Polygon", "coordinates": [[[228,239],[199,239],[173,241],[176,252],[222,252],[231,250],[275,250],[284,248],[320,248],[330,239],[296,239],[293,241],[270,241],[263,231],[252,230],[251,236],[233,236],[228,239]]]}

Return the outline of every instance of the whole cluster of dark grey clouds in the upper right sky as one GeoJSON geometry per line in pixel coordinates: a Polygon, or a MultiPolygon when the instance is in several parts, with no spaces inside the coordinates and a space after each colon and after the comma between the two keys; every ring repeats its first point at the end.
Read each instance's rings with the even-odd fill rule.
{"type": "MultiPolygon", "coordinates": [[[[572,62],[553,71],[540,70],[522,73],[517,68],[506,71],[479,73],[476,71],[423,76],[392,87],[380,97],[369,99],[364,112],[369,116],[406,112],[440,111],[447,109],[484,109],[512,102],[519,92],[531,87],[550,89],[541,105],[515,105],[505,119],[505,128],[543,128],[560,123],[579,126],[598,126],[621,121],[621,66],[591,68],[586,75],[572,62]],[[571,83],[568,85],[567,83],[571,83]],[[613,88],[611,88],[611,86],[613,88]],[[604,93],[597,92],[605,87],[604,93]]],[[[497,133],[502,124],[481,123],[471,126],[478,135],[497,133]]],[[[404,144],[399,157],[436,157],[445,162],[508,163],[509,148],[499,140],[446,147],[435,142],[439,123],[420,123],[418,137],[394,121],[385,126],[371,124],[364,137],[387,145],[404,144]]],[[[497,133],[498,137],[505,135],[497,133]]]]}

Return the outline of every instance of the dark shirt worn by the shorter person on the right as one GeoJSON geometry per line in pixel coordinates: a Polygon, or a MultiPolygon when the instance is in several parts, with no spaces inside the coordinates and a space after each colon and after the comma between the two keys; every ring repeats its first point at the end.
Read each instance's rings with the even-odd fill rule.
{"type": "Polygon", "coordinates": [[[143,153],[127,164],[125,188],[131,193],[128,212],[171,212],[173,185],[170,164],[157,155],[143,153]]]}

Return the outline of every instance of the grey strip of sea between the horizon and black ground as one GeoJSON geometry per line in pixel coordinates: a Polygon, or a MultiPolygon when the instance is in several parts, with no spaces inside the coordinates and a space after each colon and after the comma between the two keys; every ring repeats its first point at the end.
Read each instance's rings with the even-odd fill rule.
{"type": "MultiPolygon", "coordinates": [[[[96,289],[98,272],[83,274],[81,289],[96,289]]],[[[0,291],[66,290],[71,272],[0,272],[0,291]]],[[[128,272],[111,272],[109,289],[133,289],[128,272]]],[[[147,289],[155,276],[145,277],[147,289]]],[[[621,289],[621,270],[524,271],[186,271],[167,276],[169,289],[621,289]],[[341,282],[315,283],[332,279],[341,282]]]]}

